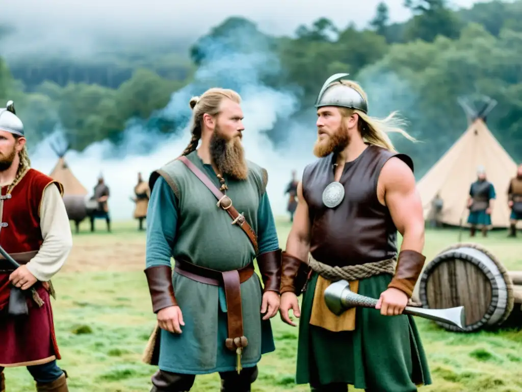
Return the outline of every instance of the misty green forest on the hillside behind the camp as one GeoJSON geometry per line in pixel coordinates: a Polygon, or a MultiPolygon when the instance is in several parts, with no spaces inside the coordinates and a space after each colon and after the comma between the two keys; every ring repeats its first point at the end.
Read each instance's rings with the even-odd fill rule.
{"type": "MultiPolygon", "coordinates": [[[[281,151],[292,148],[291,134],[284,132],[290,121],[315,133],[319,88],[331,74],[348,72],[369,94],[371,115],[398,110],[408,121],[407,131],[422,142],[393,136],[397,148],[416,160],[417,176],[465,131],[459,97],[495,99],[488,126],[506,151],[522,160],[522,1],[460,10],[450,9],[445,0],[406,0],[405,5],[411,11],[407,22],[391,24],[381,3],[364,29],[341,29],[318,17],[292,38],[274,37],[250,20],[230,17],[195,42],[172,37],[137,48],[119,45],[88,60],[43,50],[0,57],[0,101],[16,102],[30,145],[59,126],[70,148],[82,151],[96,141],[120,143],[129,120],[151,132],[179,132],[187,116],[162,114],[172,94],[193,83],[209,62],[233,59],[229,73],[236,74],[234,64],[250,67],[244,77],[298,98],[292,112],[266,130],[281,151]],[[257,60],[247,60],[252,58],[257,60]]],[[[2,45],[11,31],[0,26],[2,45]]],[[[214,85],[234,88],[243,79],[227,80],[214,85]]],[[[201,83],[198,93],[212,85],[211,80],[201,83]]],[[[185,112],[188,99],[179,105],[185,112]]]]}

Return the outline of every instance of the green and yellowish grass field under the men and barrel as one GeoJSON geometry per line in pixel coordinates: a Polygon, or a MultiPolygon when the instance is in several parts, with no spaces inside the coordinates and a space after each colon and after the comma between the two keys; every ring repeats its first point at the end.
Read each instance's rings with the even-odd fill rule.
{"type": "MultiPolygon", "coordinates": [[[[98,221],[97,227],[98,232],[90,234],[84,222],[66,266],[53,279],[56,335],[63,357],[59,364],[67,370],[74,392],[147,391],[156,368],[140,361],[155,325],[143,273],[145,234],[137,232],[135,222],[115,223],[110,235],[104,222],[98,221]]],[[[289,229],[288,223],[278,223],[282,248],[289,229]]],[[[474,240],[507,269],[522,270],[520,239],[506,234],[494,232],[474,240]]],[[[462,240],[468,241],[467,232],[462,240]]],[[[457,230],[429,230],[424,253],[431,260],[457,241],[457,230]]],[[[277,349],[262,359],[252,390],[309,390],[293,383],[298,330],[279,316],[272,320],[277,349]]],[[[522,331],[460,334],[416,320],[434,380],[420,390],[522,392],[522,331]]],[[[5,375],[8,392],[34,390],[25,368],[7,368],[5,375]]],[[[196,377],[192,390],[218,391],[219,376],[196,377]]]]}

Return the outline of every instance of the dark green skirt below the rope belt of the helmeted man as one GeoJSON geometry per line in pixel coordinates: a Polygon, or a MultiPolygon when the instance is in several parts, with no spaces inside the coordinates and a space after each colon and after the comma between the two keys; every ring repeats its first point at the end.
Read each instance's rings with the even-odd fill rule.
{"type": "MultiPolygon", "coordinates": [[[[359,282],[361,295],[378,298],[390,275],[359,282]]],[[[346,383],[358,389],[416,391],[431,384],[428,361],[412,316],[382,316],[379,310],[357,308],[355,330],[331,332],[310,325],[317,282],[313,274],[303,294],[299,322],[297,384],[346,383]]]]}

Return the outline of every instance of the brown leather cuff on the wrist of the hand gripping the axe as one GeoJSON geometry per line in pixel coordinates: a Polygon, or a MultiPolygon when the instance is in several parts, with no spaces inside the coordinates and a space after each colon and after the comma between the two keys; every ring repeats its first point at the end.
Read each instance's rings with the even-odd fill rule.
{"type": "Polygon", "coordinates": [[[411,298],[413,287],[415,287],[417,279],[419,279],[425,260],[426,257],[417,251],[402,250],[397,260],[395,275],[390,284],[388,284],[388,288],[394,287],[399,289],[411,298]]]}

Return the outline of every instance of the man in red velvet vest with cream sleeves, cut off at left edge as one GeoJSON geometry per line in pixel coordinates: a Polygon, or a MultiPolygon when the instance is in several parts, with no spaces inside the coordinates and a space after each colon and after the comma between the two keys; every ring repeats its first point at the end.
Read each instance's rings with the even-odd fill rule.
{"type": "Polygon", "coordinates": [[[0,108],[0,390],[4,367],[26,366],[38,391],[66,392],[56,344],[50,282],[73,245],[63,186],[30,168],[23,124],[12,101],[0,108]],[[27,312],[12,311],[16,289],[28,294],[27,312]]]}

